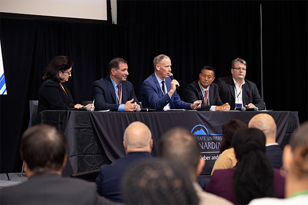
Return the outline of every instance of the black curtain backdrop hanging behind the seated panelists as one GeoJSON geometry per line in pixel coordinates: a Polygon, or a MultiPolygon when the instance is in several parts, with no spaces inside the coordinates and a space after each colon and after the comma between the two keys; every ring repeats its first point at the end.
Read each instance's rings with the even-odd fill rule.
{"type": "MultiPolygon", "coordinates": [[[[8,95],[0,96],[1,156],[9,172],[20,172],[19,145],[28,128],[29,100],[38,99],[42,71],[57,55],[74,62],[73,98],[91,99],[94,80],[108,74],[114,57],[128,60],[141,100],[141,85],[164,53],[184,88],[209,65],[216,77],[230,63],[247,61],[246,79],[261,92],[260,4],[263,80],[267,109],[298,111],[307,120],[306,1],[117,1],[118,25],[1,17],[1,46],[8,95]]],[[[1,169],[3,173],[4,170],[1,169]]]]}

